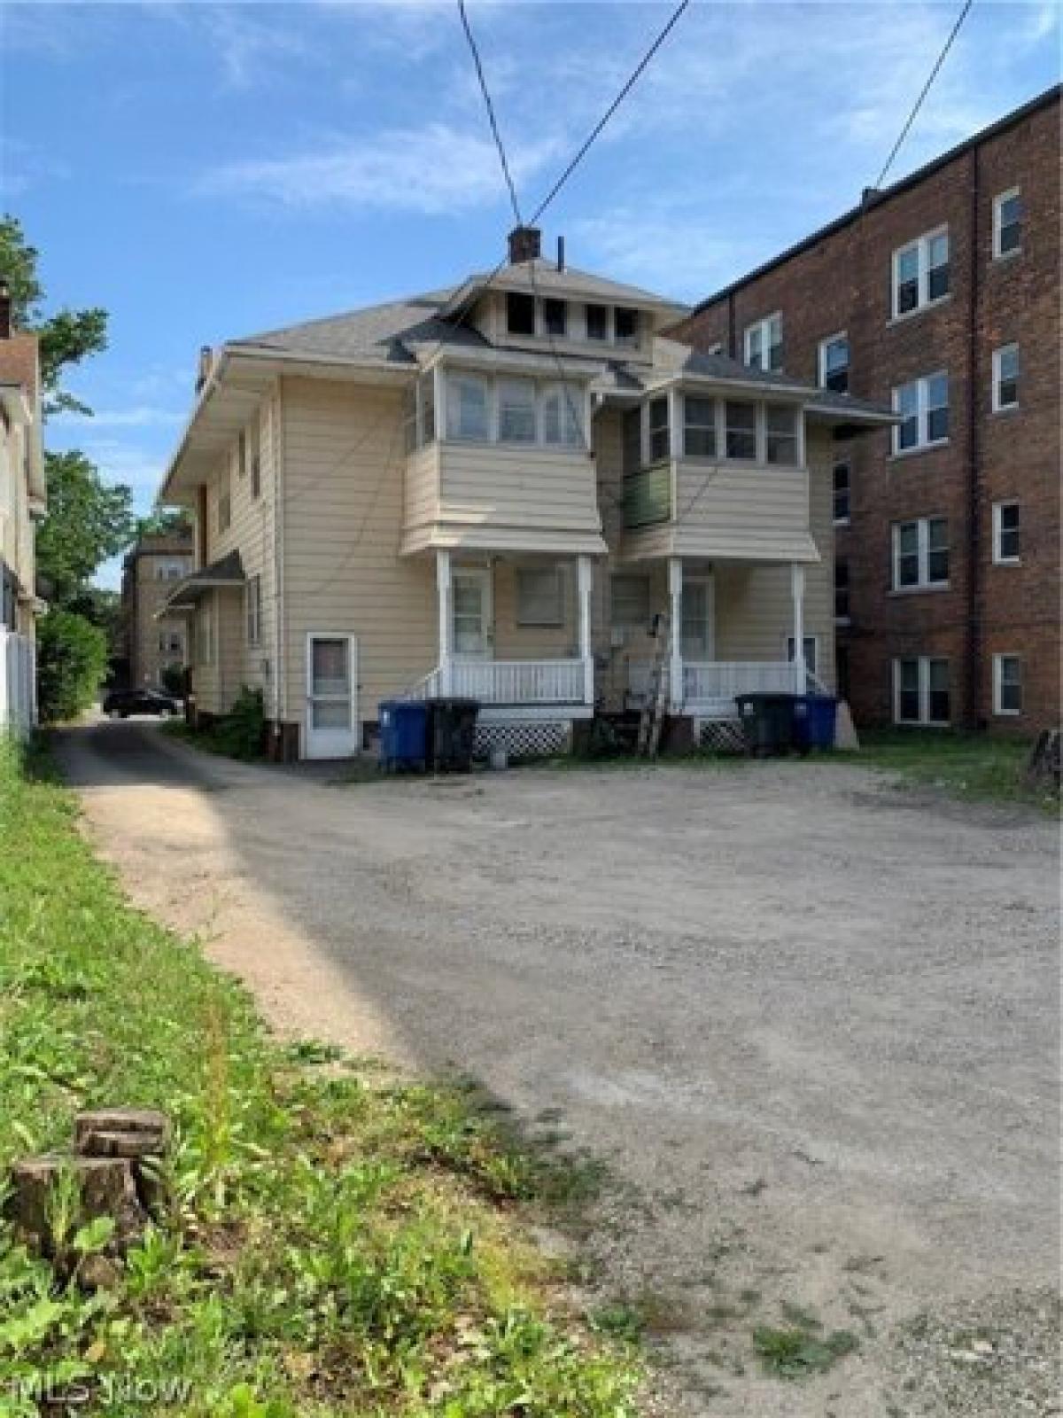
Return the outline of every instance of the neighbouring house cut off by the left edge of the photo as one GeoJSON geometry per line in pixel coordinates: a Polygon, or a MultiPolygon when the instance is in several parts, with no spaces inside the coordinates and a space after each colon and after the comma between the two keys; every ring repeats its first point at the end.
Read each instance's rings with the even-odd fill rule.
{"type": "Polygon", "coordinates": [[[0,285],[0,732],[37,718],[34,529],[47,508],[37,336],[11,326],[0,285]]]}

